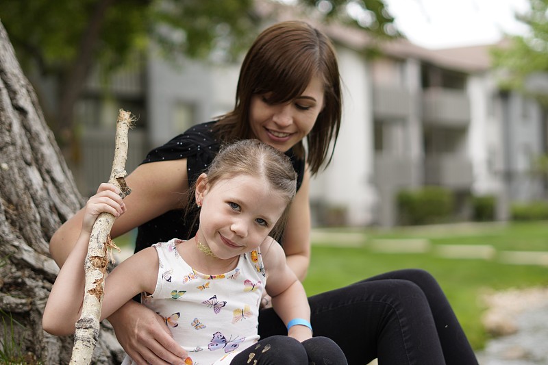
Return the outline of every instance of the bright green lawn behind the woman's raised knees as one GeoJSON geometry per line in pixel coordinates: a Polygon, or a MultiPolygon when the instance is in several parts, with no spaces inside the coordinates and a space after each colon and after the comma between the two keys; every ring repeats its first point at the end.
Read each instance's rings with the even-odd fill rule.
{"type": "MultiPolygon", "coordinates": [[[[334,230],[336,231],[336,230],[334,230]]],[[[481,323],[486,309],[482,296],[489,290],[548,286],[546,266],[503,264],[497,260],[447,259],[436,255],[436,245],[493,246],[499,251],[548,251],[548,223],[508,225],[455,225],[413,227],[381,231],[364,229],[359,247],[314,244],[312,262],[304,286],[309,295],[340,288],[360,279],[400,268],[423,268],[440,283],[474,349],[484,347],[488,335],[481,323]],[[425,238],[425,253],[378,253],[371,243],[377,238],[425,238]]]]}

